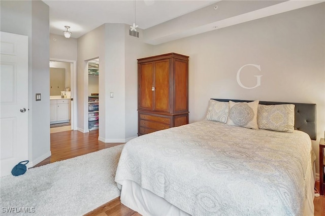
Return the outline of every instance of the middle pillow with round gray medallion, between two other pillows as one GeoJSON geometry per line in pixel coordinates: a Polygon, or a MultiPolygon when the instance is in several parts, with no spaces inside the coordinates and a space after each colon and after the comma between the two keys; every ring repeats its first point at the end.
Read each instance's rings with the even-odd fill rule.
{"type": "Polygon", "coordinates": [[[252,102],[229,101],[228,125],[246,127],[258,130],[257,107],[258,100],[252,102]]]}

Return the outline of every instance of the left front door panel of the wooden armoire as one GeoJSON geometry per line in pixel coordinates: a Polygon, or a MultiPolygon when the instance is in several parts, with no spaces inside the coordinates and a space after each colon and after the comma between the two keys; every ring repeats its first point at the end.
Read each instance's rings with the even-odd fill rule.
{"type": "Polygon", "coordinates": [[[143,64],[140,67],[140,109],[153,109],[153,64],[143,64]]]}

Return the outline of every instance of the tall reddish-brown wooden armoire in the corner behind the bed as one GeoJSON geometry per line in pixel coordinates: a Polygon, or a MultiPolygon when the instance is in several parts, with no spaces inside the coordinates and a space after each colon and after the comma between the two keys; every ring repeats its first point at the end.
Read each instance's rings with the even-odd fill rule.
{"type": "Polygon", "coordinates": [[[138,135],[188,124],[188,56],[138,59],[138,135]]]}

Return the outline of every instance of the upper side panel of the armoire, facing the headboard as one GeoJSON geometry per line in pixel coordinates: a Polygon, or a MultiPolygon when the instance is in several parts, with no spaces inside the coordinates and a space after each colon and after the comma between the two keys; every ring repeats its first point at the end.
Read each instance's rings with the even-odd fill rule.
{"type": "Polygon", "coordinates": [[[186,111],[187,110],[187,92],[188,92],[188,77],[186,71],[186,63],[182,61],[175,60],[174,62],[174,79],[175,79],[175,112],[186,111]]]}

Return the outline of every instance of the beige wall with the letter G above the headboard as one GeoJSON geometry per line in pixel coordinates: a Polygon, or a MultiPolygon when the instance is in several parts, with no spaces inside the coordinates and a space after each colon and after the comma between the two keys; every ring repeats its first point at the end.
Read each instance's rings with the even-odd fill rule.
{"type": "MultiPolygon", "coordinates": [[[[205,117],[209,98],[317,104],[317,141],[325,130],[325,3],[155,46],[189,58],[189,120],[205,117]],[[236,75],[246,64],[241,81],[236,75]]],[[[318,172],[318,171],[317,171],[318,172]]]]}

